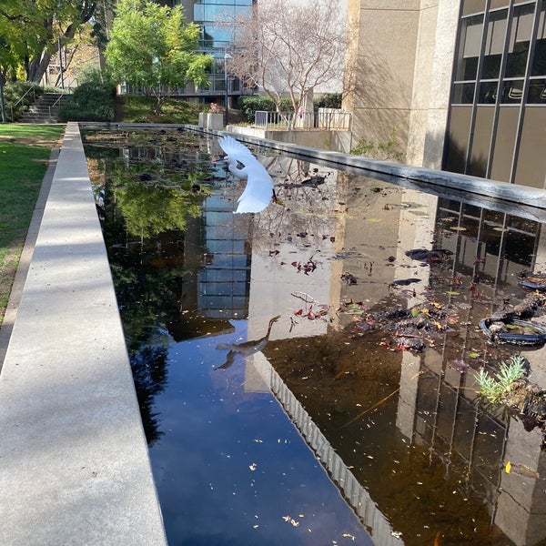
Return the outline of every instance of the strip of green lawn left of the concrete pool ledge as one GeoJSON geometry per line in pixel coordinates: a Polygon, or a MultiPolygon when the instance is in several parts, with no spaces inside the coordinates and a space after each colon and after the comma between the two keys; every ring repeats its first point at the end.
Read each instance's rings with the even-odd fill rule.
{"type": "Polygon", "coordinates": [[[0,124],[0,325],[47,160],[64,130],[0,124]]]}

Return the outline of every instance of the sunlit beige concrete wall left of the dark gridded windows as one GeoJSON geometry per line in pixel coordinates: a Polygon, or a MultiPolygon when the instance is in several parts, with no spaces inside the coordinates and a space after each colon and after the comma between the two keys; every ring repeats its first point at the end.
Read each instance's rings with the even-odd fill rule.
{"type": "Polygon", "coordinates": [[[391,131],[410,165],[441,167],[459,0],[349,0],[344,109],[353,147],[391,131]]]}

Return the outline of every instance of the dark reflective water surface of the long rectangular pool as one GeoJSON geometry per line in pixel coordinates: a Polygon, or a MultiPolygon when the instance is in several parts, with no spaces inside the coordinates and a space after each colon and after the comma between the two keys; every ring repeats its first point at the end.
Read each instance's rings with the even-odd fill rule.
{"type": "Polygon", "coordinates": [[[280,203],[234,215],[216,139],[84,139],[170,544],[546,543],[541,432],[474,379],[545,382],[478,326],[546,270],[540,211],[261,150],[280,203]]]}

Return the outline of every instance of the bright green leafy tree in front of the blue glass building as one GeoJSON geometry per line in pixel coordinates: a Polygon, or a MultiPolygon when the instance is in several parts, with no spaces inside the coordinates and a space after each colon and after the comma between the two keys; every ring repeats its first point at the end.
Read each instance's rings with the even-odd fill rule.
{"type": "Polygon", "coordinates": [[[159,114],[177,87],[209,85],[207,68],[213,59],[197,52],[199,33],[198,25],[185,24],[180,5],[120,0],[106,45],[106,66],[116,83],[156,96],[159,114]]]}

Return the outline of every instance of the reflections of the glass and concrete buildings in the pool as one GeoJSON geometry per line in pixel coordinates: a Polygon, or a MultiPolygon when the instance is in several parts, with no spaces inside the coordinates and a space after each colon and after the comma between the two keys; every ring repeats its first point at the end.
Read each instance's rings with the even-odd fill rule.
{"type": "MultiPolygon", "coordinates": [[[[489,345],[477,325],[522,298],[522,269],[546,269],[541,223],[511,205],[480,208],[476,197],[263,161],[284,206],[233,215],[240,187],[228,185],[206,198],[184,238],[180,260],[196,274],[182,280],[173,338],[226,333],[247,318],[248,340],[259,339],[281,316],[263,353],[246,359],[245,388],[275,394],[375,543],[449,543],[449,532],[467,543],[544,541],[541,435],[480,408],[473,379],[520,350],[489,345]],[[410,248],[453,254],[423,265],[410,248]],[[409,278],[419,280],[393,287],[409,278]],[[381,332],[353,335],[339,312],[343,301],[373,311],[431,298],[456,308],[459,323],[419,354],[380,347],[381,332]]],[[[544,385],[544,349],[523,352],[544,385]]]]}

